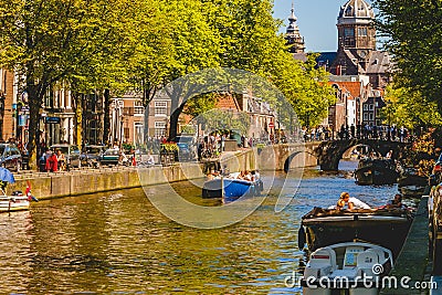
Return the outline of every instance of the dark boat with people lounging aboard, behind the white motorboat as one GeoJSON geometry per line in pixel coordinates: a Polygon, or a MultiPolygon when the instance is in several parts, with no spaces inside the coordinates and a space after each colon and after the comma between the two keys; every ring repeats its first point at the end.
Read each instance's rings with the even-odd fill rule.
{"type": "Polygon", "coordinates": [[[412,222],[408,209],[336,210],[314,208],[302,218],[298,246],[308,250],[349,241],[368,241],[399,254],[412,222]]]}

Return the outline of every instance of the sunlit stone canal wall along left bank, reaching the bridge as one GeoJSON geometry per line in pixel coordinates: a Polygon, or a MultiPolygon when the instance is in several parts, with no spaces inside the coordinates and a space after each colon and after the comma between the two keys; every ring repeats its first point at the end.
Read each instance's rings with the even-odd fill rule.
{"type": "Polygon", "coordinates": [[[70,172],[22,172],[14,175],[15,183],[9,185],[8,193],[24,192],[28,183],[38,199],[87,194],[119,189],[154,186],[188,179],[203,178],[211,170],[224,166],[231,171],[283,170],[290,167],[316,166],[316,158],[305,151],[305,145],[275,145],[236,152],[223,152],[220,159],[202,164],[179,162],[171,166],[122,167],[82,169],[70,172]],[[295,157],[291,155],[295,155],[295,157]]]}

